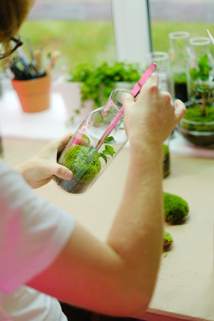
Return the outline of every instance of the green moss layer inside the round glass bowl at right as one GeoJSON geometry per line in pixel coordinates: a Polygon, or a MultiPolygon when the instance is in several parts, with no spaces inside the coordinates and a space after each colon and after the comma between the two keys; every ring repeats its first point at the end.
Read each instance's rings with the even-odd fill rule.
{"type": "Polygon", "coordinates": [[[195,121],[195,122],[202,122],[204,124],[190,124],[190,123],[182,122],[182,126],[190,130],[196,130],[201,132],[214,131],[214,124],[205,124],[206,122],[214,122],[214,107],[206,106],[205,110],[206,110],[206,116],[202,116],[200,105],[187,108],[184,119],[195,121]]]}

